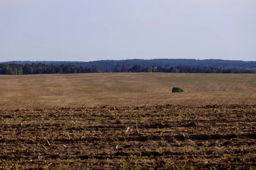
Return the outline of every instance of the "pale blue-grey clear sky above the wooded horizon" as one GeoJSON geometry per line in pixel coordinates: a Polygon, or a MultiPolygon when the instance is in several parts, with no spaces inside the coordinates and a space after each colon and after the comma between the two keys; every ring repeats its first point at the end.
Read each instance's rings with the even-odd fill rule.
{"type": "Polygon", "coordinates": [[[256,0],[0,0],[0,62],[256,60],[256,0]]]}

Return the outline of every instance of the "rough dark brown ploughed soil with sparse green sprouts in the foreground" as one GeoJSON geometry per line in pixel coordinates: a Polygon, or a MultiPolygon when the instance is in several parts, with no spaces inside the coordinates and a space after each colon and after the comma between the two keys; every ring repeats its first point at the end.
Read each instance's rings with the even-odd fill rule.
{"type": "Polygon", "coordinates": [[[0,111],[0,169],[256,169],[256,106],[0,111]]]}

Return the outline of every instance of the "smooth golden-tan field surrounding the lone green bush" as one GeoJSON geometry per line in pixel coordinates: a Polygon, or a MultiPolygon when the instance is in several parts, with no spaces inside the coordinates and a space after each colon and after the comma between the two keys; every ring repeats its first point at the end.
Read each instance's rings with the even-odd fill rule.
{"type": "Polygon", "coordinates": [[[256,74],[0,75],[0,109],[256,104],[256,74]],[[185,93],[172,93],[173,87],[185,93]]]}

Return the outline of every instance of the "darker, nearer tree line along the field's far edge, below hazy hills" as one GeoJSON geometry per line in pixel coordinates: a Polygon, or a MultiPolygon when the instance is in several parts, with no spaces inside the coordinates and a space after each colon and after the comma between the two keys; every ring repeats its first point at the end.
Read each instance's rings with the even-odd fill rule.
{"type": "MultiPolygon", "coordinates": [[[[15,64],[15,63],[0,63],[0,74],[8,75],[23,75],[23,74],[76,74],[76,73],[101,73],[99,68],[83,67],[76,65],[47,65],[44,63],[32,64],[15,64]]],[[[113,72],[163,72],[163,73],[256,73],[254,70],[247,69],[221,69],[214,67],[190,67],[190,66],[176,66],[176,67],[149,67],[134,65],[132,67],[114,68],[113,72]]]]}

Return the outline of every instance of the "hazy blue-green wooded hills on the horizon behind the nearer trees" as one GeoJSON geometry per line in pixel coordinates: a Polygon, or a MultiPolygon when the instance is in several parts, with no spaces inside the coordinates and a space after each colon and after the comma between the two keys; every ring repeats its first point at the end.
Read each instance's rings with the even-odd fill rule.
{"type": "Polygon", "coordinates": [[[148,67],[176,67],[176,66],[190,66],[190,67],[214,67],[221,69],[247,69],[256,70],[256,61],[241,61],[241,60],[222,60],[222,59],[124,59],[124,60],[98,60],[90,62],[71,62],[71,61],[9,61],[3,63],[15,64],[32,64],[44,63],[47,65],[75,65],[88,68],[98,68],[102,72],[114,71],[115,68],[133,67],[134,65],[142,65],[148,67]]]}

